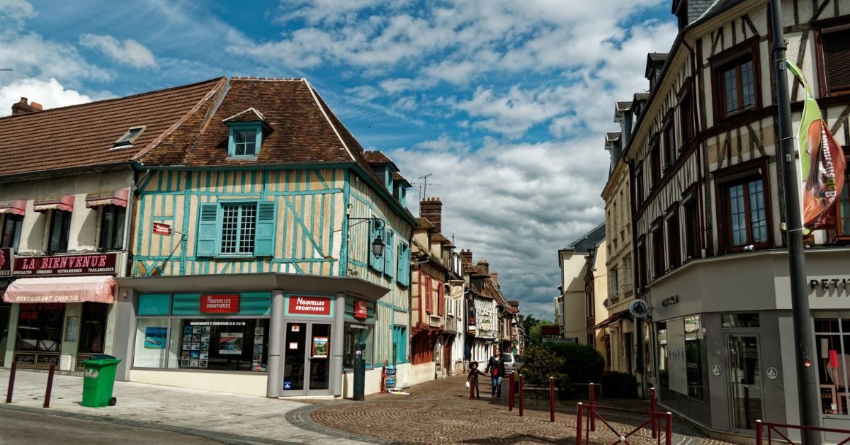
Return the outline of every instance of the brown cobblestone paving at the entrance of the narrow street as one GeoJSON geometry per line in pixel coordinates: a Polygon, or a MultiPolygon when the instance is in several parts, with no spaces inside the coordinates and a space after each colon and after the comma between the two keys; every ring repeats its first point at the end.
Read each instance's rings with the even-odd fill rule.
{"type": "MultiPolygon", "coordinates": [[[[524,416],[519,417],[518,408],[507,409],[507,384],[501,402],[490,399],[489,380],[484,379],[482,384],[481,389],[486,391],[482,391],[482,398],[478,400],[469,400],[464,376],[455,376],[413,386],[406,390],[409,395],[379,394],[366,397],[365,402],[331,402],[305,407],[293,413],[298,419],[287,416],[287,420],[329,435],[334,434],[332,429],[337,429],[348,431],[361,440],[363,436],[371,436],[378,443],[575,443],[574,413],[560,410],[552,423],[547,407],[529,406],[524,409],[524,416]]],[[[603,415],[620,434],[632,431],[645,420],[603,415]]],[[[591,432],[590,438],[592,443],[611,443],[618,439],[600,420],[597,420],[597,431],[591,432]]],[[[629,442],[655,443],[656,440],[651,438],[648,429],[643,429],[629,437],[629,442]]],[[[726,443],[701,438],[681,425],[675,428],[672,442],[726,443]]]]}

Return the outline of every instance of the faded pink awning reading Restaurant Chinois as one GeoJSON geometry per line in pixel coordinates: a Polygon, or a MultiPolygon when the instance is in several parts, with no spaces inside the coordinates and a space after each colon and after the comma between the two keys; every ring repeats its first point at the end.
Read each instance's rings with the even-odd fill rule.
{"type": "Polygon", "coordinates": [[[3,294],[7,303],[80,303],[94,301],[112,302],[115,278],[93,277],[43,277],[18,278],[8,285],[3,294]]]}

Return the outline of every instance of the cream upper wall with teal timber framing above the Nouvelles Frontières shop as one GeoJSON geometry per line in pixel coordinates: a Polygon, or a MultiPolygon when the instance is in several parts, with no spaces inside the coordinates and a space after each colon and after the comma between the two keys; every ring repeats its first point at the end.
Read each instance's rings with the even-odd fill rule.
{"type": "MultiPolygon", "coordinates": [[[[408,319],[410,289],[399,284],[397,274],[368,267],[369,225],[356,225],[349,232],[346,215],[381,218],[396,244],[410,243],[415,221],[399,203],[388,201],[393,198],[385,189],[377,187],[382,184],[366,179],[357,168],[328,165],[151,170],[137,193],[133,277],[264,272],[346,277],[356,273],[390,289],[376,305],[375,361],[392,362],[393,328],[395,322],[408,319]],[[201,204],[227,201],[277,203],[271,257],[195,254],[201,204]],[[171,225],[175,234],[154,235],[154,222],[171,225]]],[[[396,250],[394,245],[392,251],[396,250]]],[[[398,270],[395,261],[392,264],[398,270]]],[[[407,322],[398,326],[410,332],[407,322]]],[[[406,345],[405,350],[409,351],[406,345]]]]}

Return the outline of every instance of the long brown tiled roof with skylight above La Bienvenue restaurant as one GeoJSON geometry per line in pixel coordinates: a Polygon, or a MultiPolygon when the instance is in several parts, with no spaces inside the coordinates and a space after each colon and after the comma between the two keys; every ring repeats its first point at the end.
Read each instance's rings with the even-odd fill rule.
{"type": "MultiPolygon", "coordinates": [[[[119,99],[0,118],[0,176],[129,162],[162,138],[185,131],[188,117],[224,88],[216,78],[119,99]],[[131,127],[144,132],[111,150],[131,127]]],[[[199,123],[200,120],[196,120],[199,123]]],[[[196,132],[196,129],[195,129],[196,132]]]]}

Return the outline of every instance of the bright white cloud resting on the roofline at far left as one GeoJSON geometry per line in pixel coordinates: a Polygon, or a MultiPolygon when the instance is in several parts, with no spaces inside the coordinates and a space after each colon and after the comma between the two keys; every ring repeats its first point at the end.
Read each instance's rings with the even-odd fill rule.
{"type": "Polygon", "coordinates": [[[18,102],[21,97],[26,97],[30,102],[38,102],[44,109],[92,101],[88,95],[67,89],[54,78],[47,81],[23,79],[0,88],[0,116],[12,114],[12,104],[18,102]]]}

